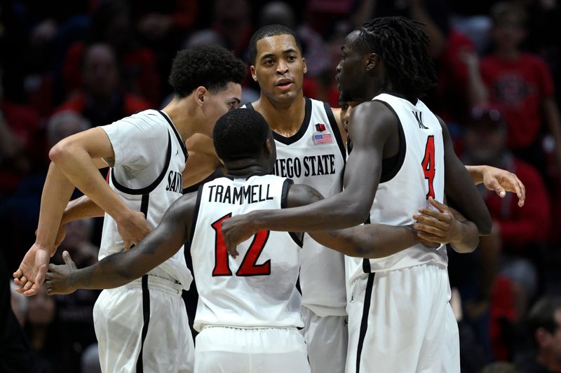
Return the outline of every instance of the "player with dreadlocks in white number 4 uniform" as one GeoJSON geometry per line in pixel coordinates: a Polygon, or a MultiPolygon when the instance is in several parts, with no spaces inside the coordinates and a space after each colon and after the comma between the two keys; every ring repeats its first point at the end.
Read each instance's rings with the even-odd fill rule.
{"type": "MultiPolygon", "coordinates": [[[[446,125],[419,99],[436,81],[428,43],[417,22],[404,17],[377,18],[346,36],[337,80],[344,101],[363,103],[349,118],[353,147],[344,190],[308,206],[254,211],[224,221],[231,253],[259,230],[428,221],[447,230],[450,211],[441,205],[445,195],[466,217],[464,225],[489,234],[489,211],[454,154],[446,125]],[[431,216],[411,216],[419,209],[431,216]]],[[[459,372],[447,262],[445,245],[420,244],[385,258],[346,258],[346,372],[459,372]]]]}

